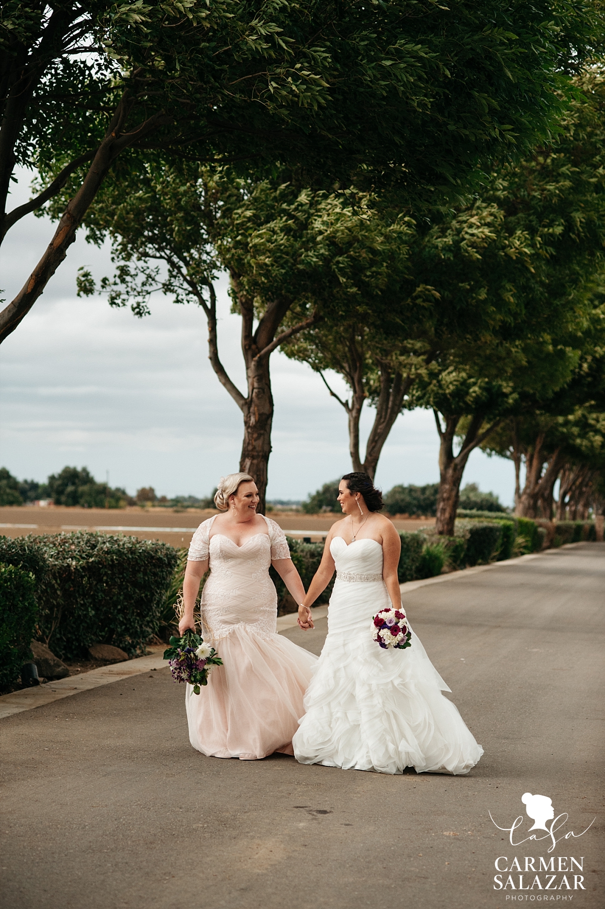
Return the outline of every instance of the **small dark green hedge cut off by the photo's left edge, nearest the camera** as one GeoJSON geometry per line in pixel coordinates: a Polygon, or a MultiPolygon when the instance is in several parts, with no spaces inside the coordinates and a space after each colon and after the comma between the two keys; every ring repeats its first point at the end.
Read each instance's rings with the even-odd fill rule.
{"type": "Polygon", "coordinates": [[[34,575],[14,564],[0,564],[0,687],[15,682],[31,658],[37,614],[34,575]]]}

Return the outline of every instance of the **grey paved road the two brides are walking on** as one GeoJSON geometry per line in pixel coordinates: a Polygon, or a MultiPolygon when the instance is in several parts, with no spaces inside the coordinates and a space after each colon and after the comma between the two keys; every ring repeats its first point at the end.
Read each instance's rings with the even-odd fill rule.
{"type": "MultiPolygon", "coordinates": [[[[167,670],[1,721],[0,906],[504,909],[535,895],[602,907],[604,581],[605,544],[580,544],[406,596],[485,748],[467,777],[205,758],[167,670]],[[569,814],[557,837],[597,820],[550,854],[550,841],[511,846],[489,812],[502,827],[522,816],[529,835],[526,792],[569,814]],[[531,873],[529,892],[494,890],[494,861],[515,855],[521,870],[525,856],[537,870],[540,856],[555,870],[573,856],[586,889],[566,889],[574,865],[538,875],[548,892],[531,873]]],[[[286,634],[317,650],[319,624],[286,634]]]]}

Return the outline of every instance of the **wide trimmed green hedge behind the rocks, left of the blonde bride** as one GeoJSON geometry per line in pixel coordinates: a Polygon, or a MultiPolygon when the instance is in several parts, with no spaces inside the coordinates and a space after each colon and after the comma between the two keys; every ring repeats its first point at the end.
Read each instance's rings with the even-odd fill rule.
{"type": "Polygon", "coordinates": [[[19,548],[23,567],[34,552],[38,565],[44,561],[36,578],[38,627],[57,656],[77,658],[96,643],[134,655],[157,632],[177,563],[173,546],[82,531],[0,537],[0,561],[15,564],[19,548]]]}

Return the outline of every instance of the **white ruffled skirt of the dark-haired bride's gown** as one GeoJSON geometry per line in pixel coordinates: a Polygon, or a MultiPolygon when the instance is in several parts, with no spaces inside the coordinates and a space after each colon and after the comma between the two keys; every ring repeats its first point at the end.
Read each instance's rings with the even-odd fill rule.
{"type": "Polygon", "coordinates": [[[382,582],[336,581],[329,633],[293,737],[302,764],[401,774],[467,774],[483,754],[420,640],[383,650],[372,615],[389,606],[382,582]]]}

